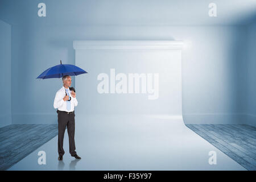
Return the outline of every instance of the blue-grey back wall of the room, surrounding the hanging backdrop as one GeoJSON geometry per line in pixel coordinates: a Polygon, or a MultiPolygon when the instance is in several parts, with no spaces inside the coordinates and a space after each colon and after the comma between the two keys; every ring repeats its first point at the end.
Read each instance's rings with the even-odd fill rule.
{"type": "Polygon", "coordinates": [[[13,121],[56,121],[52,104],[61,80],[35,78],[44,69],[59,64],[60,59],[75,64],[73,40],[175,39],[185,42],[182,55],[185,122],[237,123],[237,113],[243,109],[237,103],[240,97],[237,71],[246,51],[242,46],[245,32],[246,28],[240,26],[13,26],[13,121]],[[16,92],[21,87],[29,88],[24,97],[16,92]],[[26,105],[20,107],[23,102],[26,105]]]}

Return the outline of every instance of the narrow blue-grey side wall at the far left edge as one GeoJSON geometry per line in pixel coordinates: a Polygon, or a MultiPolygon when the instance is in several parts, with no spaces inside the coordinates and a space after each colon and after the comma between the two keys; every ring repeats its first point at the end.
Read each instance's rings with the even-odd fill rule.
{"type": "Polygon", "coordinates": [[[0,127],[11,124],[11,26],[0,20],[0,127]]]}

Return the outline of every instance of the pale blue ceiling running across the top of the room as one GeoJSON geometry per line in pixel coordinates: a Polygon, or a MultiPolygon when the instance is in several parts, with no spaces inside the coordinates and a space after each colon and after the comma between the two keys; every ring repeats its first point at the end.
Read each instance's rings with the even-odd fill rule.
{"type": "Polygon", "coordinates": [[[256,0],[0,0],[0,19],[35,26],[212,26],[256,20],[256,0]],[[46,3],[46,17],[38,3],[46,3]],[[217,17],[209,17],[209,3],[217,17]]]}

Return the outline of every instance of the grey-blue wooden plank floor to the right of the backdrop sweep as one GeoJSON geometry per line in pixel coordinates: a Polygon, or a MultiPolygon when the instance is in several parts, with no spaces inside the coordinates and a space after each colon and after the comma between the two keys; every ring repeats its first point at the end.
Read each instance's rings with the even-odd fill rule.
{"type": "Polygon", "coordinates": [[[241,166],[256,170],[256,127],[249,125],[186,125],[241,166]]]}

